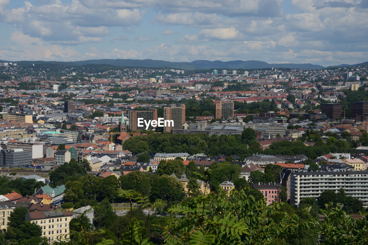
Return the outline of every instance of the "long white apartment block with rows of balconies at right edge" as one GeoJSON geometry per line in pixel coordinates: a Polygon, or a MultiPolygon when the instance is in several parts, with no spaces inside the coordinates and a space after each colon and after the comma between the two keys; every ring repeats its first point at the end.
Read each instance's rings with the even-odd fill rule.
{"type": "Polygon", "coordinates": [[[368,206],[368,171],[354,172],[294,172],[290,176],[290,203],[299,205],[304,197],[318,198],[322,191],[337,192],[344,188],[347,195],[368,206]]]}

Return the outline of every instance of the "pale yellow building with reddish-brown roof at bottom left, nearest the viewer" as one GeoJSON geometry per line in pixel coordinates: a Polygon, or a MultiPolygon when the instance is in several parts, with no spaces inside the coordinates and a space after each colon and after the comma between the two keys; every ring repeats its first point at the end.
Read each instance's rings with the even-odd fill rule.
{"type": "Polygon", "coordinates": [[[69,222],[72,216],[71,212],[61,210],[36,211],[28,212],[25,220],[39,225],[42,229],[42,236],[52,242],[69,238],[69,222]]]}

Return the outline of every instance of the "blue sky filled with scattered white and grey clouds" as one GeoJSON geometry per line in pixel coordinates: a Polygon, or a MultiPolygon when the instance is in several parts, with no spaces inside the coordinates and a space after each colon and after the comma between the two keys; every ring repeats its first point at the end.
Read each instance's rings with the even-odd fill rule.
{"type": "Polygon", "coordinates": [[[0,0],[0,60],[368,61],[368,0],[0,0]]]}

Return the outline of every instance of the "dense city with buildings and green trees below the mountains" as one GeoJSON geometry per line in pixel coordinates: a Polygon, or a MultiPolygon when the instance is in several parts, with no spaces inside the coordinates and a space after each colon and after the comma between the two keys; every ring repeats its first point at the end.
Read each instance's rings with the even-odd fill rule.
{"type": "Polygon", "coordinates": [[[368,63],[2,62],[0,245],[368,244],[367,117],[368,63]]]}

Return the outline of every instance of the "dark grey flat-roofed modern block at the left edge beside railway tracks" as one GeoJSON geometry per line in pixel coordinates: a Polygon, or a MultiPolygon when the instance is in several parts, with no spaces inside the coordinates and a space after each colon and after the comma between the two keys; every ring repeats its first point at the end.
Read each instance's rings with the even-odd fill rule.
{"type": "Polygon", "coordinates": [[[22,167],[32,163],[32,152],[23,149],[0,150],[1,167],[22,167]]]}

